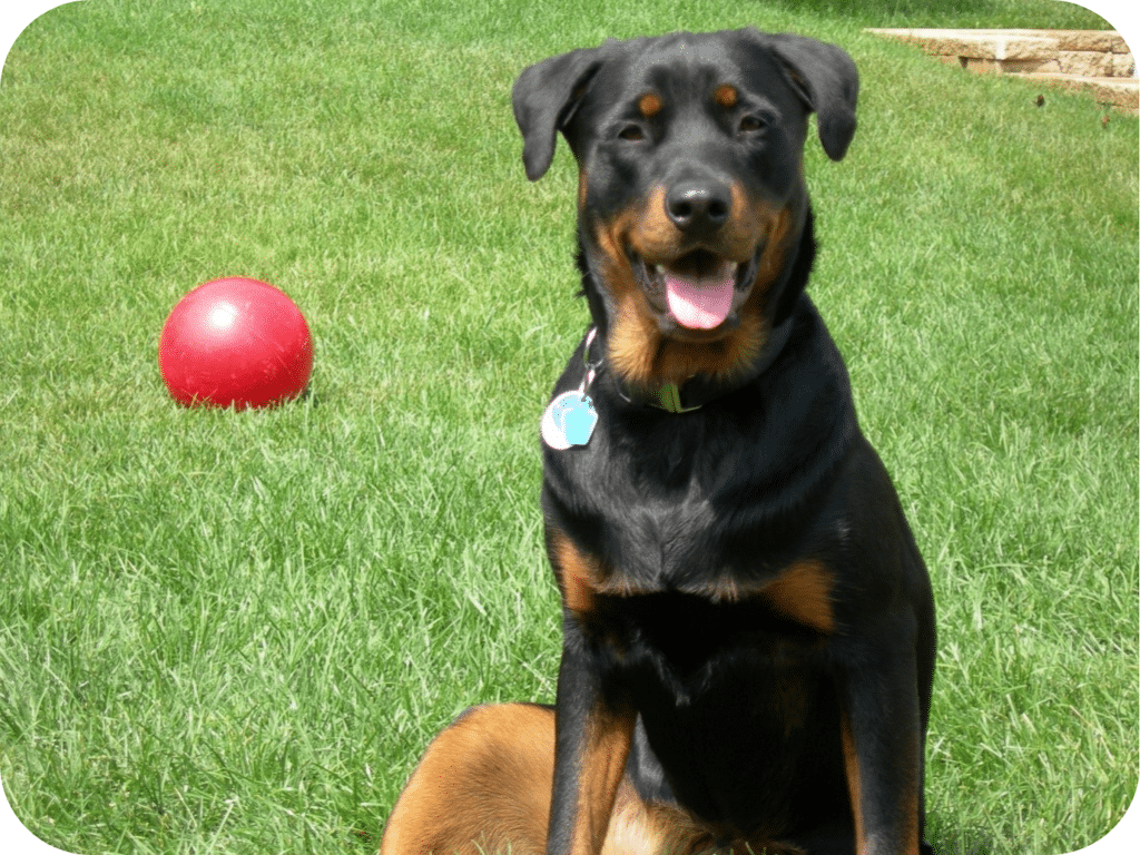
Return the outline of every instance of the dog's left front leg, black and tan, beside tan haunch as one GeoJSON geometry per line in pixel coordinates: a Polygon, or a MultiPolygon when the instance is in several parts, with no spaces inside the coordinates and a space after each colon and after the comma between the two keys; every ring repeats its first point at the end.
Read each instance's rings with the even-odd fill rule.
{"type": "Polygon", "coordinates": [[[547,855],[601,852],[637,717],[624,692],[603,684],[592,643],[573,622],[559,668],[547,855]]]}

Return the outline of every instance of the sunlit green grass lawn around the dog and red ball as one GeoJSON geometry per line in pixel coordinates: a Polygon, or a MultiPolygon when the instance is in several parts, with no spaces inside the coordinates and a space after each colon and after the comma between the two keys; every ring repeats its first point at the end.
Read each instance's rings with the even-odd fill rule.
{"type": "Polygon", "coordinates": [[[1061,3],[90,0],[0,81],[0,775],[80,853],[373,852],[431,735],[549,700],[537,421],[585,325],[573,165],[526,181],[551,52],[757,24],[842,43],[812,293],[930,565],[945,852],[1062,853],[1137,785],[1137,120],[870,25],[1061,3]],[[263,278],[312,394],[185,410],[198,282],[263,278]]]}

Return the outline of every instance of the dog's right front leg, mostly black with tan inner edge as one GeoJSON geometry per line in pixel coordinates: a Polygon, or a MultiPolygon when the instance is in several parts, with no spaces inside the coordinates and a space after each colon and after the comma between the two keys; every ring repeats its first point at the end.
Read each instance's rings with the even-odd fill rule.
{"type": "MultiPolygon", "coordinates": [[[[910,622],[899,620],[897,622],[910,622]]],[[[895,626],[881,637],[912,638],[895,626]]],[[[844,765],[857,855],[918,855],[923,739],[913,646],[865,646],[840,677],[844,765]]]]}

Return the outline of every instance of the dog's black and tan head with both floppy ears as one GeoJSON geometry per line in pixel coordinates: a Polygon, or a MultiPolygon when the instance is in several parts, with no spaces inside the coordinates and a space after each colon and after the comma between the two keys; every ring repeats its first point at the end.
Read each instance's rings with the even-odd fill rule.
{"type": "Polygon", "coordinates": [[[754,30],[608,41],[522,72],[527,176],[546,172],[561,131],[587,298],[622,380],[751,368],[809,217],[807,116],[838,161],[857,93],[841,49],[754,30]]]}

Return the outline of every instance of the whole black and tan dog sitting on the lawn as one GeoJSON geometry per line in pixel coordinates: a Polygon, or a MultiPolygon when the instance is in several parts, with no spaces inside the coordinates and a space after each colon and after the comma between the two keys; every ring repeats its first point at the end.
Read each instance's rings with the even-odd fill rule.
{"type": "Polygon", "coordinates": [[[559,131],[578,162],[593,318],[543,427],[556,703],[443,731],[384,855],[926,850],[930,584],[804,293],[808,114],[838,161],[857,91],[750,30],[519,78],[527,176],[559,131]]]}

